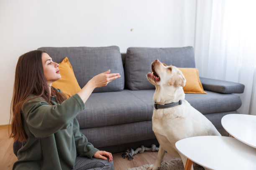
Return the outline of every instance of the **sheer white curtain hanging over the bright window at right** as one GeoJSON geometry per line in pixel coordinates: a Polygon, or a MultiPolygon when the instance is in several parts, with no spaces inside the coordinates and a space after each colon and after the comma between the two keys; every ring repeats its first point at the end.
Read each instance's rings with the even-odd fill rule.
{"type": "Polygon", "coordinates": [[[201,77],[245,85],[238,112],[256,115],[256,1],[197,0],[195,60],[201,77]]]}

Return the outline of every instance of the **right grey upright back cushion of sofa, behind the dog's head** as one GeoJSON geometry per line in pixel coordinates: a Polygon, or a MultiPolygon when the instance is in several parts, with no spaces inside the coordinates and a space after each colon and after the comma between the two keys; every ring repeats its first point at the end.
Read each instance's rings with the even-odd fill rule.
{"type": "Polygon", "coordinates": [[[149,48],[129,47],[125,59],[125,83],[130,90],[154,89],[146,74],[151,72],[151,62],[159,59],[166,65],[195,67],[193,47],[149,48]]]}

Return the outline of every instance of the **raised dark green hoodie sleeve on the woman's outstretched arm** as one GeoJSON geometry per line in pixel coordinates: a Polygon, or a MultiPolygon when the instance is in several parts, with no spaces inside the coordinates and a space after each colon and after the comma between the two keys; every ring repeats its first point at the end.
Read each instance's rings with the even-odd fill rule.
{"type": "Polygon", "coordinates": [[[67,129],[70,122],[84,109],[84,102],[78,94],[57,105],[49,105],[42,97],[36,97],[23,104],[23,118],[30,132],[36,138],[45,138],[58,130],[67,129]]]}

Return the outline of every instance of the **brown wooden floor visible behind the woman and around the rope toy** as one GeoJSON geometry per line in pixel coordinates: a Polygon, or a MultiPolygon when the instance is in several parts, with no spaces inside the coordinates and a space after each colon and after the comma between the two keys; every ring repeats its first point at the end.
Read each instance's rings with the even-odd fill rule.
{"type": "MultiPolygon", "coordinates": [[[[152,164],[156,160],[157,152],[138,153],[133,156],[133,160],[123,159],[123,153],[114,153],[113,162],[115,170],[125,170],[127,168],[134,168],[144,164],[152,164]]],[[[164,160],[173,159],[172,155],[166,153],[164,160]]],[[[8,127],[0,126],[0,170],[11,170],[13,163],[17,157],[13,153],[13,140],[8,138],[8,127]]]]}

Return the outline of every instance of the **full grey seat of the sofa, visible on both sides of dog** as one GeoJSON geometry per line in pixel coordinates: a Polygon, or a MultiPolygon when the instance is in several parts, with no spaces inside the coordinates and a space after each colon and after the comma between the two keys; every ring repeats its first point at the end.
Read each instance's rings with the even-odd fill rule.
{"type": "MultiPolygon", "coordinates": [[[[151,120],[154,92],[155,90],[123,90],[93,93],[85,102],[85,109],[77,115],[80,128],[151,120]]],[[[210,91],[207,94],[186,94],[185,99],[202,114],[233,111],[241,106],[238,95],[210,91]]]]}

